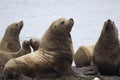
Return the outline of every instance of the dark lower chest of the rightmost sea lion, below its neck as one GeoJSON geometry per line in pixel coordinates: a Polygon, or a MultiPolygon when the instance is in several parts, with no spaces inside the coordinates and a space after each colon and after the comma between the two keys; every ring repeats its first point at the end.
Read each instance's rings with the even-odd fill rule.
{"type": "Polygon", "coordinates": [[[117,75],[120,55],[115,51],[105,51],[94,55],[95,63],[101,74],[117,75]]]}

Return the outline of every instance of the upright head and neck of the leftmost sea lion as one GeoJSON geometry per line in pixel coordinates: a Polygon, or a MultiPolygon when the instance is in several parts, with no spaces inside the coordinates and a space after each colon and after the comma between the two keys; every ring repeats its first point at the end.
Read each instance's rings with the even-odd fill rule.
{"type": "Polygon", "coordinates": [[[23,28],[23,21],[10,24],[0,42],[0,50],[17,52],[20,50],[19,34],[23,28]]]}

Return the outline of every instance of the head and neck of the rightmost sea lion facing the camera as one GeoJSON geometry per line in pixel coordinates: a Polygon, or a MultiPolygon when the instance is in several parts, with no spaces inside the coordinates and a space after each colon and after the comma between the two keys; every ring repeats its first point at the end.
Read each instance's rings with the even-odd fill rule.
{"type": "Polygon", "coordinates": [[[113,21],[108,20],[105,22],[96,45],[99,47],[103,46],[104,49],[113,49],[119,46],[118,30],[113,21]]]}

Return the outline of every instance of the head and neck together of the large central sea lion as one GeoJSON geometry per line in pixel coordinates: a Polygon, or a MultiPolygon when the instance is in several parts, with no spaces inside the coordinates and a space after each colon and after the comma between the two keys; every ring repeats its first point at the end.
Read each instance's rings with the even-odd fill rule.
{"type": "Polygon", "coordinates": [[[51,51],[65,50],[65,46],[71,47],[71,45],[68,44],[72,44],[70,31],[73,25],[74,20],[72,18],[60,18],[55,20],[42,36],[39,48],[51,51]]]}

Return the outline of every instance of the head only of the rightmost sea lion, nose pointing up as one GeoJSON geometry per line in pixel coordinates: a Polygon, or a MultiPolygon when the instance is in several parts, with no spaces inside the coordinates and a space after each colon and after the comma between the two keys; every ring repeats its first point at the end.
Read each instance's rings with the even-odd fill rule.
{"type": "Polygon", "coordinates": [[[113,21],[108,19],[104,22],[103,30],[100,35],[100,41],[105,43],[114,43],[118,40],[118,30],[113,21]]]}

